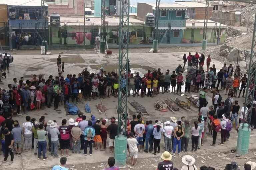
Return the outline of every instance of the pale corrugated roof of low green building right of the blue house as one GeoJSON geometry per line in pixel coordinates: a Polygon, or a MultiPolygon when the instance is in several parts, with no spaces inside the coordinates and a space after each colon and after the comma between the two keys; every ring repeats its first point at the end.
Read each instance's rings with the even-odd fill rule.
{"type": "MultiPolygon", "coordinates": [[[[186,28],[187,27],[192,27],[192,23],[195,23],[195,28],[204,28],[204,20],[193,20],[193,19],[186,20],[186,28]]],[[[217,27],[219,27],[220,23],[214,22],[212,20],[208,20],[207,27],[208,28],[214,28],[215,23],[217,24],[217,27]]],[[[221,24],[220,27],[225,28],[225,27],[228,27],[228,26],[226,26],[224,24],[221,24]]]]}

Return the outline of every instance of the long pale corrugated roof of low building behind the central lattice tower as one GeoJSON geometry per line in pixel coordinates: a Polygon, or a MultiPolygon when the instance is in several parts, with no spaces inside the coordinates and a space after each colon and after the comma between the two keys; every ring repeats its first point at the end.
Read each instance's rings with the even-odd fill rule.
{"type": "MultiPolygon", "coordinates": [[[[86,23],[93,23],[94,25],[100,26],[101,18],[100,17],[93,17],[93,16],[87,16],[86,18],[90,19],[90,21],[86,21],[86,23]]],[[[119,23],[119,17],[106,17],[105,21],[109,22],[109,26],[117,25],[117,24],[111,24],[111,23],[119,23]]],[[[70,23],[68,25],[83,25],[84,23],[84,17],[60,17],[60,22],[64,23],[70,23]]],[[[129,18],[130,26],[137,24],[143,24],[144,22],[137,20],[135,18],[130,17],[129,18]],[[132,24],[134,23],[134,24],[132,24]]],[[[86,24],[88,25],[88,24],[86,24]]]]}

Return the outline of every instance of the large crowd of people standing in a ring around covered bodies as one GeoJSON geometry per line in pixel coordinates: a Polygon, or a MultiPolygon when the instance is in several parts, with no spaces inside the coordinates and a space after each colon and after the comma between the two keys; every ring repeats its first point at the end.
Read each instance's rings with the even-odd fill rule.
{"type": "MultiPolygon", "coordinates": [[[[183,56],[183,67],[179,64],[172,74],[170,74],[170,70],[166,70],[164,74],[160,68],[152,72],[148,70],[142,77],[138,72],[136,75],[131,74],[130,71],[125,73],[128,84],[126,85],[125,79],[122,79],[120,84],[123,89],[128,87],[128,97],[131,95],[131,91],[133,97],[144,97],[145,95],[153,97],[160,92],[181,94],[184,82],[184,93],[190,93],[191,85],[194,87],[191,92],[194,91],[198,94],[200,91],[198,117],[197,121],[193,123],[185,117],[181,117],[179,120],[170,117],[163,123],[159,120],[155,120],[153,123],[152,120],[144,120],[140,114],[127,119],[127,149],[131,157],[131,165],[136,164],[138,152],[150,152],[154,155],[160,153],[161,139],[164,140],[164,150],[166,151],[161,156],[162,158],[168,157],[168,155],[171,158],[176,153],[181,156],[181,152],[188,152],[190,138],[192,141],[190,151],[196,152],[203,146],[206,134],[212,134],[211,146],[215,146],[217,133],[220,132],[221,142],[219,145],[225,145],[229,140],[233,124],[238,130],[239,123],[249,119],[250,109],[252,109],[251,129],[256,128],[256,102],[252,107],[243,106],[238,118],[240,106],[238,101],[233,99],[239,98],[242,90],[242,97],[244,97],[247,84],[246,74],[242,76],[239,65],[234,69],[232,64],[227,67],[225,63],[217,72],[214,64],[210,67],[209,55],[206,59],[207,71],[204,72],[204,60],[204,54],[199,56],[197,52],[195,55],[189,53],[187,57],[186,54],[183,56]],[[186,63],[188,63],[187,74],[183,77],[186,63]],[[219,85],[221,85],[220,89],[219,85]],[[170,89],[170,87],[172,88],[170,89]],[[210,107],[207,107],[209,103],[206,97],[208,90],[213,93],[210,107]],[[226,92],[227,99],[222,98],[220,90],[226,92]]],[[[67,77],[64,78],[62,75],[64,64],[59,55],[57,58],[58,76],[55,79],[52,75],[47,80],[41,75],[38,77],[33,75],[33,78],[26,81],[23,77],[19,81],[17,78],[13,78],[13,83],[8,84],[8,89],[0,89],[2,110],[0,112],[0,137],[2,151],[5,155],[3,163],[7,161],[10,154],[11,161],[9,163],[11,164],[14,160],[14,152],[20,156],[22,148],[24,152],[33,151],[38,159],[41,159],[42,156],[43,160],[47,160],[47,148],[50,155],[55,158],[60,157],[59,149],[61,156],[64,154],[66,157],[70,156],[69,150],[72,150],[73,154],[87,156],[88,146],[89,155],[92,155],[93,147],[95,150],[105,150],[108,139],[109,151],[110,153],[114,151],[118,127],[114,117],[109,119],[109,125],[106,119],[97,120],[93,115],[88,119],[83,114],[79,114],[75,120],[63,119],[61,122],[50,120],[50,118],[45,120],[44,116],[39,120],[26,116],[26,122],[22,125],[17,120],[13,120],[13,115],[22,115],[22,112],[28,115],[36,109],[44,110],[46,106],[50,108],[52,103],[56,110],[59,104],[65,106],[67,102],[70,102],[70,98],[72,102],[79,104],[80,101],[90,101],[91,98],[96,100],[97,98],[118,96],[119,77],[117,73],[113,71],[107,73],[104,68],[100,68],[98,73],[90,73],[85,68],[78,74],[78,77],[75,74],[67,74],[67,77]]],[[[250,85],[249,88],[254,88],[254,86],[250,85]]],[[[169,164],[164,161],[160,167],[173,167],[173,164],[172,166],[169,164]]],[[[158,169],[162,170],[163,168],[158,169]]],[[[183,169],[188,168],[184,167],[183,169]]]]}

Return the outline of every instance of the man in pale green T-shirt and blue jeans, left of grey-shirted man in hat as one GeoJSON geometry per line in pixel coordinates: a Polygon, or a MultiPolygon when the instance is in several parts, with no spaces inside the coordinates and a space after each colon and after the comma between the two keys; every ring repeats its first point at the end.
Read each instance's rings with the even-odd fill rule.
{"type": "Polygon", "coordinates": [[[43,152],[43,160],[47,160],[48,158],[46,157],[46,147],[47,147],[47,142],[46,142],[46,135],[47,131],[44,129],[44,125],[40,124],[39,125],[39,130],[37,130],[37,136],[38,136],[38,158],[41,158],[41,152],[43,152]]]}

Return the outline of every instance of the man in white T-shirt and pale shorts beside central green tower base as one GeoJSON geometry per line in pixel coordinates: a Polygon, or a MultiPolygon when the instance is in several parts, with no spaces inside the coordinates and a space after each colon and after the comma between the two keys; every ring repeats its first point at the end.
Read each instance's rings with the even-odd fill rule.
{"type": "Polygon", "coordinates": [[[131,165],[134,165],[138,158],[138,141],[134,138],[133,132],[130,133],[130,137],[127,139],[127,144],[129,146],[129,156],[131,157],[131,165]]]}

